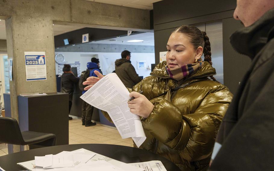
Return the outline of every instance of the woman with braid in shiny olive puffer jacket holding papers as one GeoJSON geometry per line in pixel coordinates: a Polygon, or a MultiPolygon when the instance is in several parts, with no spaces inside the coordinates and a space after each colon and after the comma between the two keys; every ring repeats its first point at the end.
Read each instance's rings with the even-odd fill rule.
{"type": "MultiPolygon", "coordinates": [[[[147,137],[139,148],[166,157],[181,170],[208,168],[218,128],[232,100],[229,89],[213,77],[216,71],[211,65],[205,32],[194,26],[173,31],[166,61],[129,89],[135,99],[128,106],[141,117],[147,137]]],[[[95,79],[88,80],[86,84],[95,79]]]]}

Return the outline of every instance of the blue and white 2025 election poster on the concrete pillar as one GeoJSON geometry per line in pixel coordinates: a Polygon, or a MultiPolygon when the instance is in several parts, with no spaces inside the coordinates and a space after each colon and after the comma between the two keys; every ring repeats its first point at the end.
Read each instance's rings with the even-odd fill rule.
{"type": "Polygon", "coordinates": [[[45,52],[25,52],[26,81],[47,79],[45,52]]]}

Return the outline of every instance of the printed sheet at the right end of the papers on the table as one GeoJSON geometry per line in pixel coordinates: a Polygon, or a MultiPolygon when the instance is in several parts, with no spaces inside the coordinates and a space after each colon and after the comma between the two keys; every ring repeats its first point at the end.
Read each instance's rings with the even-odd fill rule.
{"type": "Polygon", "coordinates": [[[167,171],[163,163],[159,160],[141,162],[141,163],[129,163],[132,166],[145,168],[145,171],[167,171]]]}

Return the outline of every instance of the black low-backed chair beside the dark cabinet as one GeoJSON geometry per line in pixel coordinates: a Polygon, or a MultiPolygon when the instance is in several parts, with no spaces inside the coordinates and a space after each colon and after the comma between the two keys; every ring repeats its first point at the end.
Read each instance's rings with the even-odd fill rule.
{"type": "Polygon", "coordinates": [[[14,145],[56,145],[56,135],[51,133],[20,131],[17,120],[10,117],[0,117],[0,143],[14,145]]]}

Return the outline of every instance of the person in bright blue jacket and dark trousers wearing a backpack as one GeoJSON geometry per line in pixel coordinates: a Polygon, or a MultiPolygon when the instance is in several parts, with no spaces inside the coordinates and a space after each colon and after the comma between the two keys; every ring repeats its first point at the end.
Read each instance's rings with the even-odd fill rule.
{"type": "MultiPolygon", "coordinates": [[[[98,65],[95,62],[88,62],[87,68],[89,69],[89,76],[95,76],[97,75],[94,73],[94,71],[99,71],[101,73],[101,70],[99,70],[98,65]]],[[[84,94],[86,91],[83,91],[82,94],[84,94]]],[[[96,125],[95,122],[91,121],[92,113],[93,113],[93,106],[83,101],[82,103],[82,125],[85,126],[94,126],[96,125]]]]}

